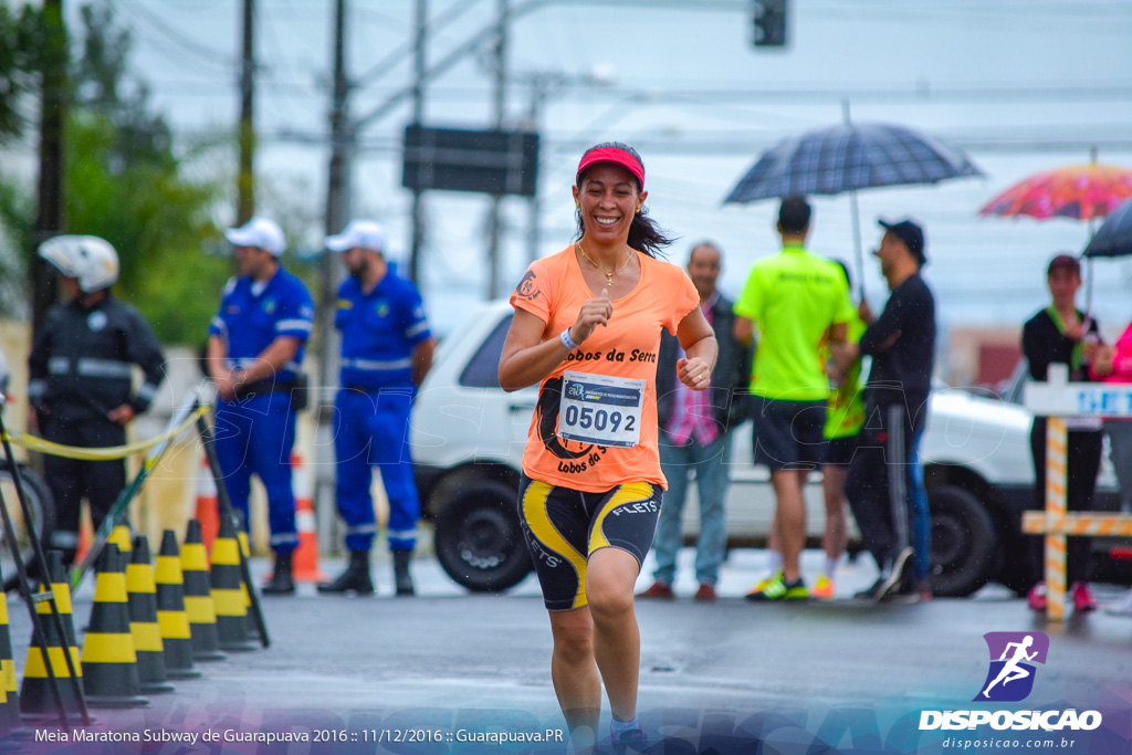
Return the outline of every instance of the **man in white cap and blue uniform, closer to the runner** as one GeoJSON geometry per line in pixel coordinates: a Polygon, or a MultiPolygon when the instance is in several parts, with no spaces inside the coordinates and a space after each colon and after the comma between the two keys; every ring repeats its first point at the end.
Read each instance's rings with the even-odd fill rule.
{"type": "Polygon", "coordinates": [[[350,566],[319,592],[374,592],[369,550],[377,532],[369,489],[378,464],[389,498],[388,542],[398,595],[413,594],[409,573],[417,546],[420,499],[409,453],[409,410],[432,364],[429,333],[417,286],[385,261],[385,233],[371,221],[353,221],[326,248],[342,254],[350,272],[338,289],[334,325],[342,332],[341,389],[334,436],[338,513],[346,523],[350,566]]]}

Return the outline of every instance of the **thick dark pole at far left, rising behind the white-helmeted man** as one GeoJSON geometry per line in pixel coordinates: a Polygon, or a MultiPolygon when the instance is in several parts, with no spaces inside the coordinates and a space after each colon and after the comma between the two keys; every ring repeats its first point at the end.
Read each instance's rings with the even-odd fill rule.
{"type": "MultiPolygon", "coordinates": [[[[63,230],[63,125],[67,122],[67,26],[62,0],[44,0],[43,96],[40,115],[38,212],[35,243],[63,230]]],[[[38,255],[32,263],[32,328],[55,303],[55,271],[38,255]]]]}

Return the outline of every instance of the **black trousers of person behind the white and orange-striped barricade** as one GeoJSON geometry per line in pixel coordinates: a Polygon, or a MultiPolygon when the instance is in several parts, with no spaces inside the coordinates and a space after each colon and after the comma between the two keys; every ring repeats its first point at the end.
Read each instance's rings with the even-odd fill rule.
{"type": "MultiPolygon", "coordinates": [[[[1100,470],[1100,449],[1104,434],[1096,431],[1070,431],[1065,452],[1066,484],[1065,508],[1071,512],[1087,512],[1092,508],[1092,491],[1097,487],[1100,470]]],[[[1034,508],[1046,509],[1046,419],[1036,417],[1030,429],[1030,453],[1034,456],[1034,508]]],[[[1028,535],[1030,540],[1030,564],[1035,582],[1045,578],[1045,538],[1028,535]]],[[[1088,582],[1092,576],[1092,543],[1089,538],[1069,538],[1065,549],[1066,580],[1088,582]]]]}

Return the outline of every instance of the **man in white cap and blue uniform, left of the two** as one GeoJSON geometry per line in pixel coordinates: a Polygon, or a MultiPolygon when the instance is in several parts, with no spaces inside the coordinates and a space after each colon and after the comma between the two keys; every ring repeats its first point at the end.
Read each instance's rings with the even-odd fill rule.
{"type": "Polygon", "coordinates": [[[240,276],[228,282],[208,328],[208,374],[220,398],[216,455],[246,527],[251,474],[264,483],[275,568],[263,592],[293,594],[291,554],[299,535],[291,489],[291,393],[315,306],[302,282],[280,264],[285,242],[274,221],[252,217],[224,237],[235,249],[240,276]]]}

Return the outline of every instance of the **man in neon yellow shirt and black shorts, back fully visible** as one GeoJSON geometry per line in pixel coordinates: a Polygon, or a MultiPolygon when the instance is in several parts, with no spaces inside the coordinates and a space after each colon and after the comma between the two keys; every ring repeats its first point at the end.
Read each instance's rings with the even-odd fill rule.
{"type": "Polygon", "coordinates": [[[755,327],[761,333],[751,376],[755,463],[771,470],[782,540],[782,570],[747,595],[754,601],[809,597],[798,564],[806,542],[803,490],[808,472],[824,461],[825,350],[844,343],[854,314],[841,269],[806,251],[811,214],[805,197],[782,200],[782,252],[752,266],[735,304],[736,338],[751,343],[755,327]]]}

